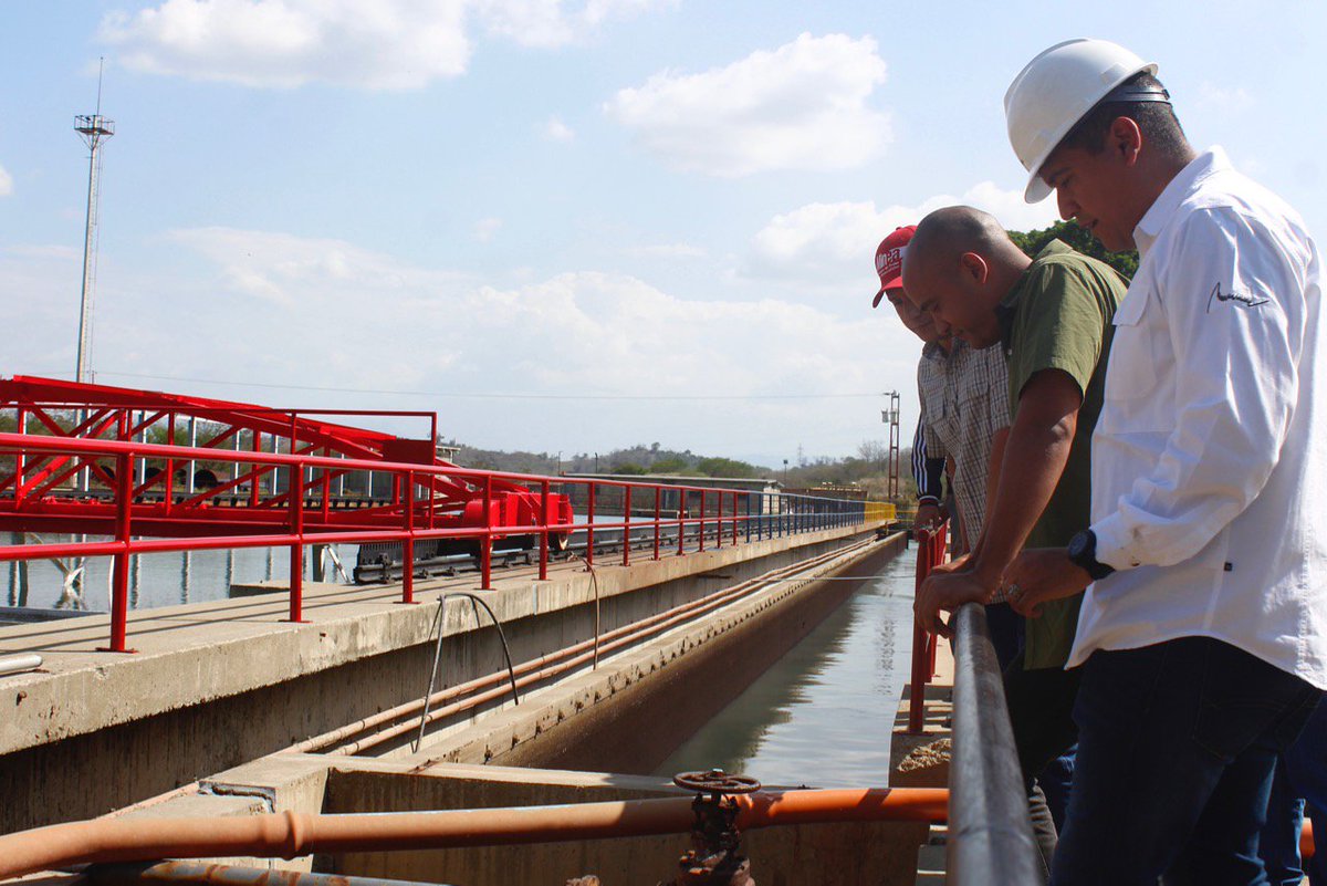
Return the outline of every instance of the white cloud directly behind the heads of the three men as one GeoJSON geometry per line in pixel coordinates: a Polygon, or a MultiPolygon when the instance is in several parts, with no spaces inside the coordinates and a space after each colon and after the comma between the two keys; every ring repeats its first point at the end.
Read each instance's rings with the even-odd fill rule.
{"type": "Polygon", "coordinates": [[[1016,231],[1055,222],[1054,202],[1027,204],[1022,190],[981,182],[961,196],[942,194],[920,206],[811,203],[774,216],[751,240],[743,272],[751,277],[790,279],[839,288],[871,284],[876,245],[894,228],[916,224],[932,210],[966,204],[985,210],[1016,231]]]}

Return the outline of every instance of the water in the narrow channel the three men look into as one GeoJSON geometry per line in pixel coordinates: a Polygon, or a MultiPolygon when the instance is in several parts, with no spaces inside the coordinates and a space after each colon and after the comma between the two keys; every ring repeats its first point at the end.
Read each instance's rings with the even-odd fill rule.
{"type": "Polygon", "coordinates": [[[721,767],[768,785],[884,787],[908,679],[913,569],[906,553],[892,560],[657,775],[721,767]]]}

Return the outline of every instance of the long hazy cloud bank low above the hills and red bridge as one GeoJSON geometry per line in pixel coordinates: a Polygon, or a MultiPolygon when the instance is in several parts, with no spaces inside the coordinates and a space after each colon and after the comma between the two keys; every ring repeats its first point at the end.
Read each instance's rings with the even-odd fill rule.
{"type": "MultiPolygon", "coordinates": [[[[176,231],[158,248],[150,272],[106,275],[114,284],[98,296],[96,367],[109,382],[257,402],[438,409],[445,434],[482,446],[662,440],[746,458],[780,439],[803,440],[812,454],[851,452],[878,435],[880,423],[872,398],[514,403],[291,394],[138,375],[548,398],[760,398],[908,390],[916,371],[916,342],[878,312],[845,320],[776,298],[687,300],[594,271],[506,284],[340,240],[263,231],[176,231]],[[251,321],[244,336],[214,334],[236,317],[251,321]]],[[[0,306],[19,308],[11,293],[41,297],[5,357],[9,371],[58,373],[73,363],[77,260],[40,252],[0,249],[0,306]]]]}

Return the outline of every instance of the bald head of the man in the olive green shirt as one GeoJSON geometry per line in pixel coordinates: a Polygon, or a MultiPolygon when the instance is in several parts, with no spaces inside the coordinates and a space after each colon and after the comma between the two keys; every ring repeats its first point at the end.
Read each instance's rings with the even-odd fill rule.
{"type": "Polygon", "coordinates": [[[989,212],[936,210],[904,251],[904,289],[918,309],[974,348],[999,341],[995,306],[1031,260],[989,212]]]}

